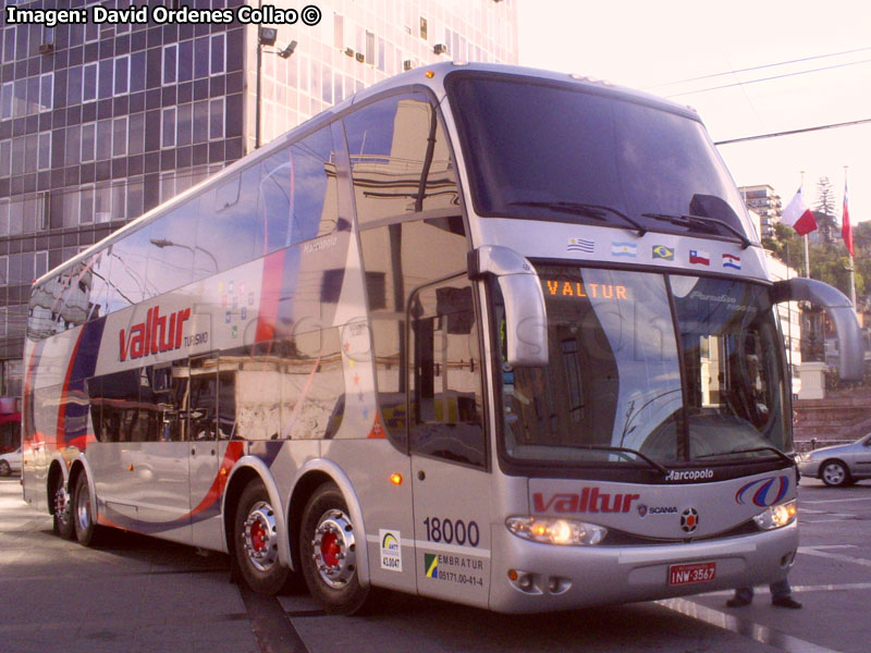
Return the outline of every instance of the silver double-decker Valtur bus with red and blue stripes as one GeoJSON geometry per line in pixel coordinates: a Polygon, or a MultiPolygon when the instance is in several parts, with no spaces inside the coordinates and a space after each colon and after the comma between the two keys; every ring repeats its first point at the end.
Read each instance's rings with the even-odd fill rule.
{"type": "Polygon", "coordinates": [[[37,280],[24,495],[329,611],[507,613],[784,578],[773,283],[697,114],[443,63],[363,90],[37,280]]]}

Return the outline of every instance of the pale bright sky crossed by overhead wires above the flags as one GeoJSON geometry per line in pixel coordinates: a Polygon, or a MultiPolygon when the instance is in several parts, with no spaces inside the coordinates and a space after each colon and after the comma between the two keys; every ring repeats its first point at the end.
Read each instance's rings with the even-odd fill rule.
{"type": "MultiPolygon", "coordinates": [[[[515,1],[522,65],[688,104],[714,141],[871,119],[867,0],[515,1]]],[[[871,220],[871,122],[719,150],[739,186],[769,184],[784,207],[802,172],[811,208],[827,176],[838,220],[846,173],[850,222],[871,220]]]]}

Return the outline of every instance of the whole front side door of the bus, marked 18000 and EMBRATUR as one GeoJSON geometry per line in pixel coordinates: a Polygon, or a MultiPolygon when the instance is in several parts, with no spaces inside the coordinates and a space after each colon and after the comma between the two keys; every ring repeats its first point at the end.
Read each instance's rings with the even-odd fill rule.
{"type": "Polygon", "coordinates": [[[491,475],[469,281],[412,295],[408,434],[418,593],[486,607],[491,475]]]}

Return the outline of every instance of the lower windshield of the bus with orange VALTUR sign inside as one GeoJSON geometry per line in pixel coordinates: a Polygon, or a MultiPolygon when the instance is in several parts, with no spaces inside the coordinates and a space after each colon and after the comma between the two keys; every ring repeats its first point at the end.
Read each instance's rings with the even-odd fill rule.
{"type": "Polygon", "coordinates": [[[510,457],[637,465],[643,456],[667,467],[792,448],[766,287],[565,266],[538,273],[550,362],[503,371],[510,457]]]}

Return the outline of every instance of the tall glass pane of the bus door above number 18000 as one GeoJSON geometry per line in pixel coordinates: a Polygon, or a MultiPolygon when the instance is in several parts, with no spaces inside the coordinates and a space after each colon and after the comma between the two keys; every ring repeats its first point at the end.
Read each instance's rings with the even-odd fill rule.
{"type": "Polygon", "coordinates": [[[413,295],[409,433],[413,453],[486,466],[481,359],[471,286],[462,278],[413,295]]]}

